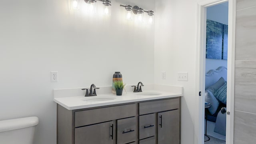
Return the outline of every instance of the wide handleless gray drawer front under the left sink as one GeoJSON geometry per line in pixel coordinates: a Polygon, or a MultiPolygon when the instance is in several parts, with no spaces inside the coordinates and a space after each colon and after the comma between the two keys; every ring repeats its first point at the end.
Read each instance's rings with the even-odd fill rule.
{"type": "Polygon", "coordinates": [[[75,112],[75,127],[96,124],[136,115],[136,104],[112,106],[75,112]]]}

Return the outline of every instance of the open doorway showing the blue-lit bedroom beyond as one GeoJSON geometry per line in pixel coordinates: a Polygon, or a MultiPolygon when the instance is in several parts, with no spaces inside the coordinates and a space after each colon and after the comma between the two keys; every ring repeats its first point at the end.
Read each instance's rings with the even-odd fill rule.
{"type": "Polygon", "coordinates": [[[226,143],[228,2],[206,8],[204,144],[226,143]]]}

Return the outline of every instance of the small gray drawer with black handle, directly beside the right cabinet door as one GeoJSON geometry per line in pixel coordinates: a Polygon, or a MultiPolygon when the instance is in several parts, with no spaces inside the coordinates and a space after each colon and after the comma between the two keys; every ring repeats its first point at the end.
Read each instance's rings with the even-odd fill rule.
{"type": "Polygon", "coordinates": [[[147,114],[140,116],[139,125],[140,140],[143,138],[148,138],[150,136],[155,136],[155,114],[147,114]]]}

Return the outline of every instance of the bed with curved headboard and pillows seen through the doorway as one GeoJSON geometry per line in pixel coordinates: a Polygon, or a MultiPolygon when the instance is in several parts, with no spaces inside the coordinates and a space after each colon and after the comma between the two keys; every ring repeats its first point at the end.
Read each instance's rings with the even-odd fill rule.
{"type": "Polygon", "coordinates": [[[205,102],[211,104],[205,112],[208,121],[215,122],[214,132],[226,135],[226,114],[221,113],[221,108],[226,108],[227,68],[221,66],[216,70],[210,70],[205,76],[205,102]],[[220,90],[221,89],[221,90],[220,90]],[[221,91],[221,98],[219,93],[221,91]]]}

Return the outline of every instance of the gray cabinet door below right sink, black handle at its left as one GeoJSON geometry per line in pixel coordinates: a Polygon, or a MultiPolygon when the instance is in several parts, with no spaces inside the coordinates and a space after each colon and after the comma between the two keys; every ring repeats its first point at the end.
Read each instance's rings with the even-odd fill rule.
{"type": "Polygon", "coordinates": [[[158,144],[180,144],[180,110],[158,113],[158,144]]]}

